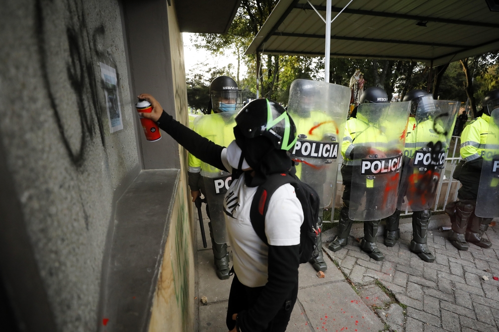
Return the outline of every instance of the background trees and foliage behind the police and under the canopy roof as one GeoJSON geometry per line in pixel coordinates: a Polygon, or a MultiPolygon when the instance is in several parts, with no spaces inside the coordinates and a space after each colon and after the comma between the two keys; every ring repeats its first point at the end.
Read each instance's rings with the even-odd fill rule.
{"type": "MultiPolygon", "coordinates": [[[[244,99],[256,97],[257,80],[260,96],[286,104],[293,80],[323,79],[323,57],[262,54],[259,68],[256,68],[256,55],[243,55],[277,2],[277,0],[242,0],[228,33],[196,34],[193,37],[197,48],[205,49],[214,56],[223,56],[225,51],[237,56],[237,68],[228,66],[223,71],[235,78],[243,90],[244,99]],[[241,63],[245,63],[248,67],[244,78],[240,77],[241,63]]],[[[475,96],[472,103],[475,103],[475,99],[480,102],[485,93],[499,87],[498,58],[499,52],[495,52],[466,59],[470,75],[473,77],[472,89],[468,88],[468,91],[473,91],[472,95],[475,96]]],[[[450,63],[448,67],[445,64],[430,69],[425,63],[410,60],[331,58],[330,82],[348,86],[350,77],[356,69],[360,69],[364,74],[364,89],[380,86],[393,101],[402,100],[412,89],[427,90],[429,80],[430,92],[434,89],[437,91],[438,95],[435,98],[459,101],[467,99],[467,79],[459,61],[450,63]],[[444,73],[438,76],[441,78],[440,83],[437,72],[444,73]]],[[[198,98],[196,96],[200,94],[201,91],[192,90],[192,98],[198,98]]]]}

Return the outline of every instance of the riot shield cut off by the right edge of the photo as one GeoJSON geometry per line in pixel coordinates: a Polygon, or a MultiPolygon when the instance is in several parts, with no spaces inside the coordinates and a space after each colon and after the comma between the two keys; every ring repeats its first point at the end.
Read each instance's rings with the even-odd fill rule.
{"type": "Polygon", "coordinates": [[[487,143],[482,157],[484,165],[475,214],[483,218],[496,218],[499,217],[499,108],[491,113],[487,143]]]}

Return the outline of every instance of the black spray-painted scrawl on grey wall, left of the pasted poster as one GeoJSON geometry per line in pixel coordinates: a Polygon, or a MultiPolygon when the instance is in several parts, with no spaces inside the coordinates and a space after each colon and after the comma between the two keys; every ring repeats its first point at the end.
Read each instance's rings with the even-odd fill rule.
{"type": "Polygon", "coordinates": [[[102,49],[104,24],[91,28],[83,4],[83,0],[35,1],[43,83],[65,150],[76,167],[83,165],[91,141],[97,139],[105,148],[98,62],[116,68],[102,49]]]}

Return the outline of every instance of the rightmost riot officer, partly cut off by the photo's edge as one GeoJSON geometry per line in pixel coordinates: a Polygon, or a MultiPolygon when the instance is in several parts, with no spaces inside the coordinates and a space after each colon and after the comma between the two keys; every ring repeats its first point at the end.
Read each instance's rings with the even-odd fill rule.
{"type": "Polygon", "coordinates": [[[458,190],[458,201],[447,204],[445,211],[451,217],[452,229],[449,241],[459,250],[468,250],[467,242],[482,248],[492,247],[483,237],[492,218],[481,218],[475,214],[479,192],[485,146],[488,140],[491,113],[499,107],[499,89],[490,91],[482,103],[483,114],[471,121],[461,134],[459,162],[453,177],[462,187],[458,190]]]}

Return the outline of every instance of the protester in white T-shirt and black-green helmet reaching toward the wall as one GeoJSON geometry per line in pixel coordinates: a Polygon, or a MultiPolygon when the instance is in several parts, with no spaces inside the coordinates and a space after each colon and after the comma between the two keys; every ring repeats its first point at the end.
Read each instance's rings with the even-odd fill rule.
{"type": "Polygon", "coordinates": [[[288,172],[296,128],[284,108],[256,99],[236,117],[235,141],[227,148],[200,136],[163,111],[149,94],[152,119],[190,153],[233,174],[224,209],[234,253],[234,280],[227,327],[231,332],[285,331],[298,294],[300,226],[303,210],[294,187],[285,184],[271,196],[265,215],[266,246],[253,230],[250,205],[268,175],[288,172]]]}

